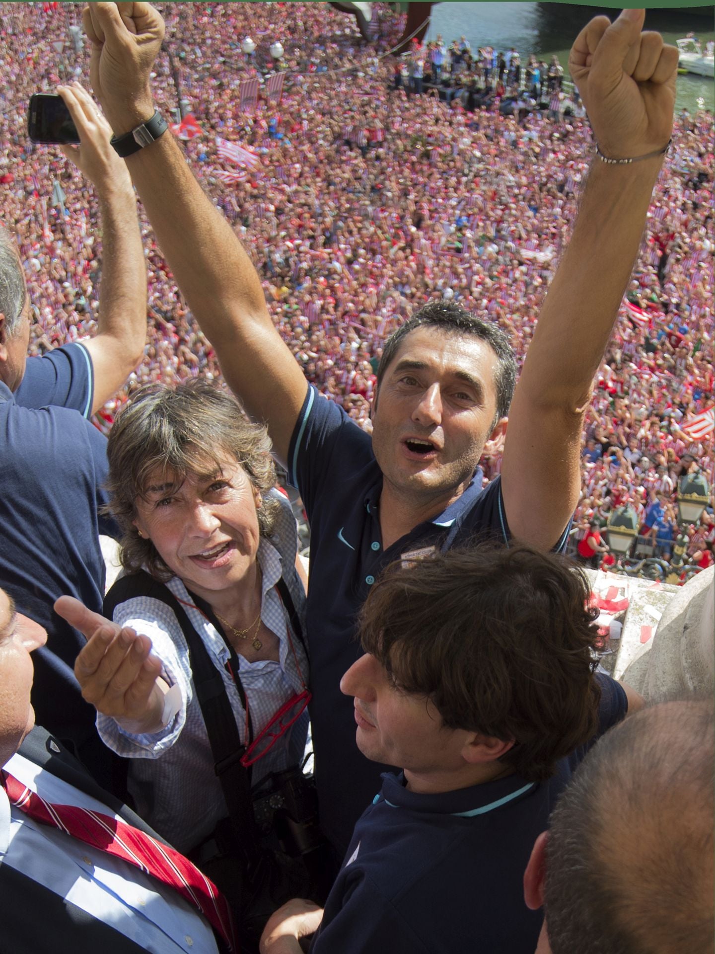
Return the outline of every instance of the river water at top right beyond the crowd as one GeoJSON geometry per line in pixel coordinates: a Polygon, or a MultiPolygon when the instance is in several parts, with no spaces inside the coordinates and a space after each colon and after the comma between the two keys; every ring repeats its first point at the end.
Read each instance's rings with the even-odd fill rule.
{"type": "MultiPolygon", "coordinates": [[[[441,33],[449,44],[462,33],[472,45],[496,47],[504,52],[516,47],[525,64],[528,54],[537,53],[548,62],[552,53],[559,56],[567,74],[568,52],[593,8],[562,3],[439,3],[432,8],[427,39],[441,33]]],[[[693,16],[683,10],[647,10],[645,29],[663,33],[668,43],[692,31],[701,40],[715,39],[713,8],[704,7],[707,16],[693,16]]],[[[618,10],[613,11],[613,16],[618,10]]],[[[678,76],[676,109],[694,113],[698,109],[715,112],[715,83],[691,74],[678,76]]]]}

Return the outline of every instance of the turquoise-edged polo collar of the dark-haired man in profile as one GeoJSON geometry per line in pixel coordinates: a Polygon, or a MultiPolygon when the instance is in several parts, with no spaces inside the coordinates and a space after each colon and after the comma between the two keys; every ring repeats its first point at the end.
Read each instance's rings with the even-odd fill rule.
{"type": "Polygon", "coordinates": [[[434,815],[460,815],[464,818],[477,818],[496,811],[502,805],[527,798],[539,787],[538,782],[530,782],[514,774],[481,785],[460,788],[456,792],[439,792],[435,795],[423,795],[410,792],[405,788],[404,773],[394,775],[385,772],[382,776],[382,792],[375,803],[384,800],[393,808],[404,808],[413,812],[426,812],[434,815]]]}

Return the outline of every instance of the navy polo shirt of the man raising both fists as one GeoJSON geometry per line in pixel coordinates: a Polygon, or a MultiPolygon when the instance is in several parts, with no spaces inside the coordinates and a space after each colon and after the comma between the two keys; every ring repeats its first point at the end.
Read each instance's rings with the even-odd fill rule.
{"type": "Polygon", "coordinates": [[[320,823],[342,854],[353,826],[388,766],[370,762],[356,744],[353,699],[341,676],[361,654],[356,616],[370,587],[403,554],[470,539],[510,538],[500,478],[482,490],[481,471],[458,500],[382,549],[378,504],[382,472],[372,439],[335,402],[310,386],[289,451],[289,480],[311,527],[306,629],[311,655],[311,727],[320,823]]]}

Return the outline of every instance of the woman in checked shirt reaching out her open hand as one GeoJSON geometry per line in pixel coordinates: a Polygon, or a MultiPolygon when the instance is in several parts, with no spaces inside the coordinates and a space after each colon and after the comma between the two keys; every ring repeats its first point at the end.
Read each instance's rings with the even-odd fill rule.
{"type": "MultiPolygon", "coordinates": [[[[112,427],[108,456],[124,575],[105,615],[118,627],[111,641],[101,628],[92,636],[75,673],[100,736],[131,760],[136,810],[199,864],[240,857],[252,802],[264,789],[275,794],[276,773],[299,775],[305,746],[296,520],[275,489],[265,428],[207,382],[137,391],[112,427]],[[212,716],[216,696],[224,709],[212,716]],[[232,721],[235,746],[222,758],[232,721]],[[223,768],[237,773],[230,789],[223,768]],[[246,824],[236,840],[229,802],[242,786],[246,824]]],[[[260,840],[270,814],[256,822],[260,840]]]]}

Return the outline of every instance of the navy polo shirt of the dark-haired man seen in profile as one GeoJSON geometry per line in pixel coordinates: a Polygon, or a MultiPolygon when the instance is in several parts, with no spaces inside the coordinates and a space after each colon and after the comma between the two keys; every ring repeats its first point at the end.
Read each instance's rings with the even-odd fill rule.
{"type": "Polygon", "coordinates": [[[311,954],[534,954],[542,912],[523,900],[527,861],[585,751],[627,710],[606,675],[600,731],[546,782],[518,775],[421,795],[385,773],[358,820],[311,954]]]}

